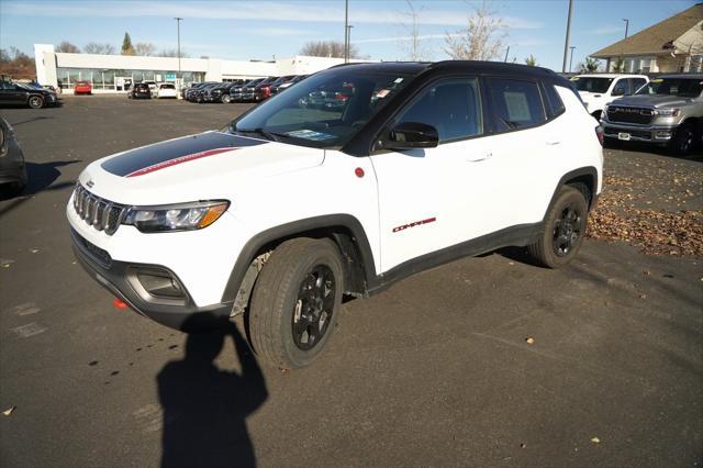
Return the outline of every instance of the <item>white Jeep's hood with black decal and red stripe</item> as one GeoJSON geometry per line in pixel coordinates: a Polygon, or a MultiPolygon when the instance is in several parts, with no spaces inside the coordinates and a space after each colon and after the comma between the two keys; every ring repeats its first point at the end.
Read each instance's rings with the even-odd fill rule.
{"type": "Polygon", "coordinates": [[[90,164],[80,183],[124,204],[163,204],[266,189],[266,179],[320,166],[324,151],[205,132],[130,149],[90,164]]]}

